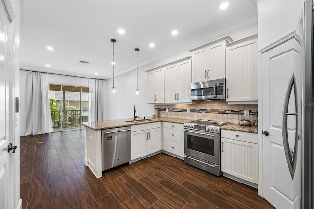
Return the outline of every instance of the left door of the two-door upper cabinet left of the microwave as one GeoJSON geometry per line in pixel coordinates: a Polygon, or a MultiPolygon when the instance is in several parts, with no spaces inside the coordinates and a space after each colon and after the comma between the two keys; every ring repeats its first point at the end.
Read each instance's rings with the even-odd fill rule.
{"type": "Polygon", "coordinates": [[[178,65],[165,67],[165,103],[177,102],[178,65]]]}

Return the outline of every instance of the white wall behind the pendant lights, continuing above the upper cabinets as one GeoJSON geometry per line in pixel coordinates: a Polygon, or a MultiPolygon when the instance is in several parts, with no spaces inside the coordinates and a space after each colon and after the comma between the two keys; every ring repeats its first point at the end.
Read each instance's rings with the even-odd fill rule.
{"type": "MultiPolygon", "coordinates": [[[[191,52],[188,49],[206,44],[211,40],[215,40],[225,35],[230,35],[234,40],[244,38],[257,33],[257,23],[249,24],[237,29],[225,28],[224,30],[217,31],[213,34],[209,34],[201,41],[194,42],[194,45],[187,45],[186,50],[177,52],[173,55],[169,55],[165,58],[157,60],[153,63],[149,63],[145,66],[138,68],[138,88],[140,90],[139,95],[135,95],[136,89],[136,69],[131,70],[125,74],[115,77],[115,87],[117,92],[115,94],[110,93],[112,87],[112,78],[106,82],[106,112],[105,120],[132,118],[134,105],[136,105],[136,115],[139,117],[152,116],[154,114],[154,105],[147,104],[147,92],[146,92],[146,72],[149,69],[156,68],[161,65],[191,56],[191,52]]],[[[138,57],[140,60],[140,52],[138,57]]]]}

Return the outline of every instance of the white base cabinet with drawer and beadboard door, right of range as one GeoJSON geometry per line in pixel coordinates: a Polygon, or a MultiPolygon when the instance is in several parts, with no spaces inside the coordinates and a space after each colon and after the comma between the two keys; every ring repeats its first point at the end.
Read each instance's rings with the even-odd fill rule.
{"type": "Polygon", "coordinates": [[[257,143],[255,133],[221,130],[221,171],[257,184],[257,143]]]}

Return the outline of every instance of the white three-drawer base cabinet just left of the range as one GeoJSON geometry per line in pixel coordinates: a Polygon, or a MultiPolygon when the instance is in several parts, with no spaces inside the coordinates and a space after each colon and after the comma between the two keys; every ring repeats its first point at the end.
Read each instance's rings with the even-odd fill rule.
{"type": "Polygon", "coordinates": [[[177,156],[184,156],[183,124],[163,122],[163,150],[177,156]]]}

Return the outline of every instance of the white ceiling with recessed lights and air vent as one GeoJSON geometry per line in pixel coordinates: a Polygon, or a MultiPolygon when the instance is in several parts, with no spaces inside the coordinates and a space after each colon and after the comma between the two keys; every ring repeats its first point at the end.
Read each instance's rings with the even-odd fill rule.
{"type": "Polygon", "coordinates": [[[222,1],[22,0],[20,68],[107,79],[112,77],[111,38],[117,40],[118,75],[136,67],[134,48],[140,49],[139,65],[147,64],[217,30],[256,19],[256,0],[229,0],[230,6],[219,10],[222,1]],[[179,31],[175,37],[173,29],[179,31]]]}

